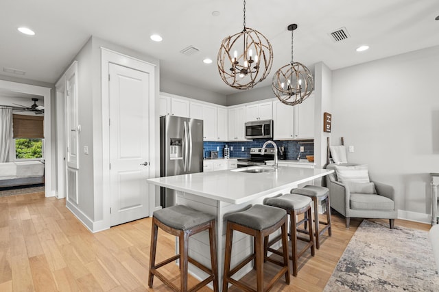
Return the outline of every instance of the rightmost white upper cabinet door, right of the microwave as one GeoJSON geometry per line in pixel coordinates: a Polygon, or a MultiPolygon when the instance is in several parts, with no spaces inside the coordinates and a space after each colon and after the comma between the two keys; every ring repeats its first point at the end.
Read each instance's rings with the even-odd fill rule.
{"type": "MultiPolygon", "coordinates": [[[[294,113],[294,136],[296,139],[314,137],[314,95],[296,106],[294,113]]],[[[276,133],[276,132],[274,132],[276,133]]]]}

